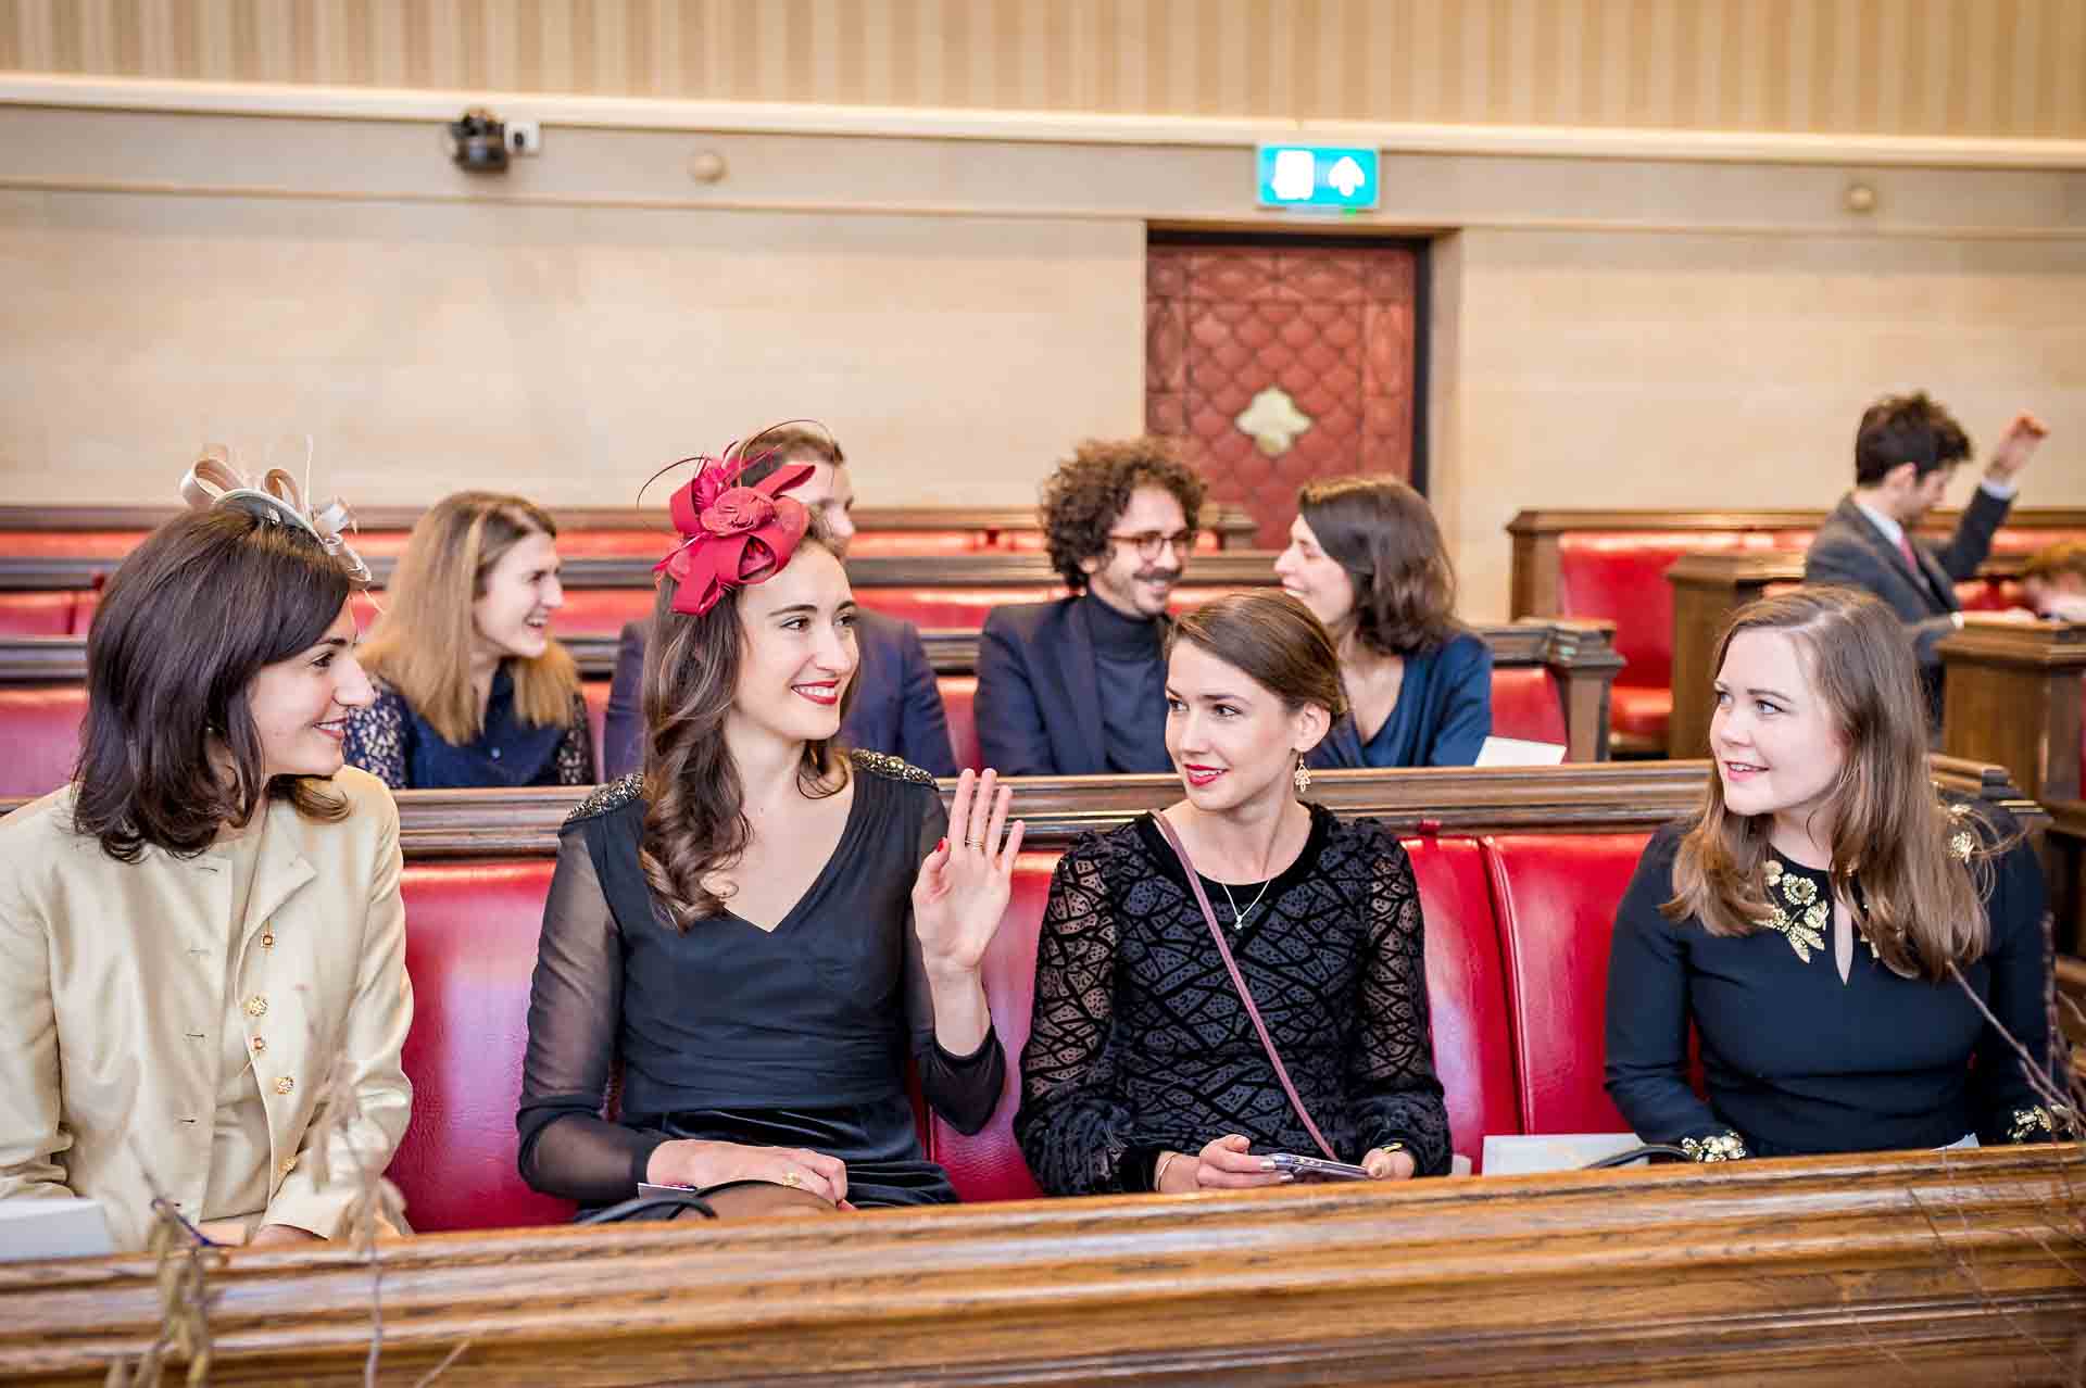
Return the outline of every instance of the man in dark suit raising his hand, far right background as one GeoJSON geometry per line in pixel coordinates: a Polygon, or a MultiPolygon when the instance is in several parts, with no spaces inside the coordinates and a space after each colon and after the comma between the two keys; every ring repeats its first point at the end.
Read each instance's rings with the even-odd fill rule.
{"type": "Polygon", "coordinates": [[[1925,394],[1888,396],[1869,406],[1854,433],[1854,490],[1840,498],[1804,556],[1806,584],[1863,588],[1898,615],[1919,654],[1930,721],[1940,727],[1944,636],[1963,627],[1955,586],[1992,550],[2013,506],[2013,477],[2034,456],[2042,423],[2019,415],[1992,450],[1984,479],[1944,546],[1911,531],[1942,500],[1969,436],[1925,394]]]}

